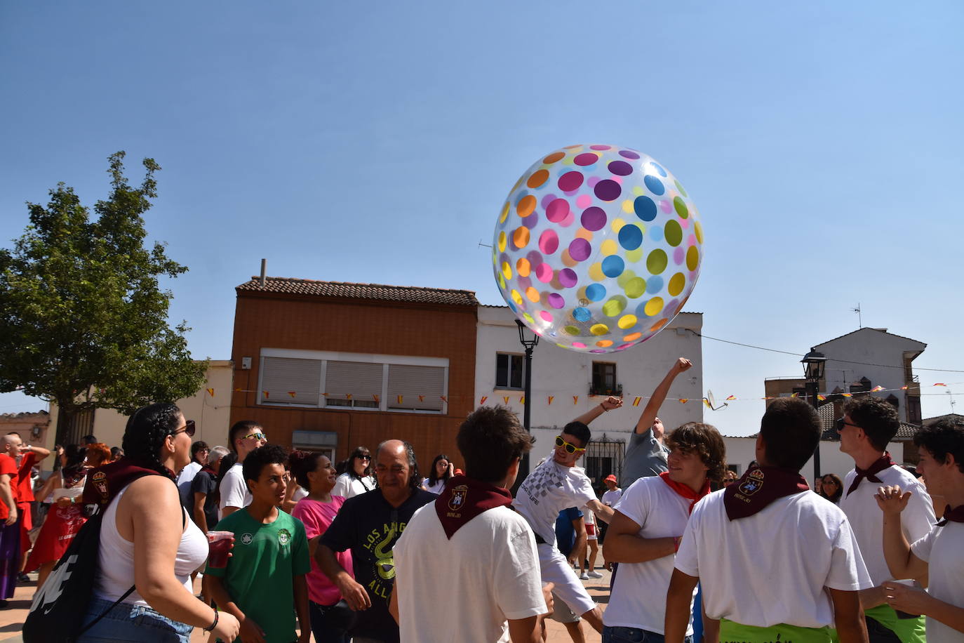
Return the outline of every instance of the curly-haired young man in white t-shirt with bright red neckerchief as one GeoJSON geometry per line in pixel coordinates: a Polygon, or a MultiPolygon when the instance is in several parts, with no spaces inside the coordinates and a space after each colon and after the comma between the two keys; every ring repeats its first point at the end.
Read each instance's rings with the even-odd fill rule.
{"type": "MultiPolygon", "coordinates": [[[[709,424],[688,422],[666,437],[669,470],[641,477],[624,492],[609,523],[603,555],[620,563],[603,613],[603,642],[663,635],[663,596],[693,506],[726,470],[726,446],[709,424]],[[642,631],[640,631],[642,630],[642,631]],[[635,637],[635,638],[633,638],[635,637]]],[[[686,635],[693,633],[692,624],[686,635]]]]}

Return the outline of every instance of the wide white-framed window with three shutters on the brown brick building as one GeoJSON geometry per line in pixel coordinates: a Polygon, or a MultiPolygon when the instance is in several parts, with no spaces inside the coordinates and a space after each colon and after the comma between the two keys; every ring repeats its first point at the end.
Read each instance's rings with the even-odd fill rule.
{"type": "Polygon", "coordinates": [[[265,348],[259,385],[265,405],[444,413],[448,360],[265,348]]]}

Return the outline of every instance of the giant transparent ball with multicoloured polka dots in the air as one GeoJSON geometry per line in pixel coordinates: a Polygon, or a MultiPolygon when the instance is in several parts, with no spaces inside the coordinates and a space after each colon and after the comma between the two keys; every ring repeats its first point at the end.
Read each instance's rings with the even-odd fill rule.
{"type": "Polygon", "coordinates": [[[502,205],[495,281],[509,308],[563,348],[611,353],[656,335],[700,275],[703,227],[673,174],[625,147],[563,147],[502,205]]]}

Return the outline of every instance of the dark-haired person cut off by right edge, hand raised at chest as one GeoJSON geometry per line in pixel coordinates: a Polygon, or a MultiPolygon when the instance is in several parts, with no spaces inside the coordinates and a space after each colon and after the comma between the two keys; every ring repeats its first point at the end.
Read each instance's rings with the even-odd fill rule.
{"type": "Polygon", "coordinates": [[[884,556],[895,578],[926,578],[927,591],[895,581],[884,583],[894,609],[926,617],[927,643],[964,641],[964,422],[946,418],[914,436],[917,465],[927,489],[944,496],[944,518],[920,540],[907,544],[901,512],[913,492],[894,485],[877,490],[884,512],[884,556]]]}

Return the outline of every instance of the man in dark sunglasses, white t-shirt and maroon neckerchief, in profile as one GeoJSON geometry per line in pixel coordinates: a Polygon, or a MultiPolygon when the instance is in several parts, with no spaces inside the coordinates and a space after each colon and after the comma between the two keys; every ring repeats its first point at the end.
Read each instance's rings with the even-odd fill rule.
{"type": "Polygon", "coordinates": [[[884,557],[883,528],[874,496],[884,486],[899,486],[912,493],[907,508],[900,514],[900,525],[907,541],[913,543],[930,531],[934,508],[924,485],[891,460],[887,442],[897,435],[897,409],[872,395],[858,397],[844,406],[844,417],[837,422],[841,451],[853,458],[854,469],[844,479],[844,510],[857,536],[861,556],[870,573],[873,587],[860,594],[867,617],[870,643],[893,641],[924,643],[924,617],[897,612],[885,603],[883,584],[893,580],[884,557]]]}

